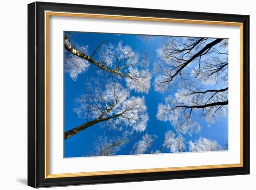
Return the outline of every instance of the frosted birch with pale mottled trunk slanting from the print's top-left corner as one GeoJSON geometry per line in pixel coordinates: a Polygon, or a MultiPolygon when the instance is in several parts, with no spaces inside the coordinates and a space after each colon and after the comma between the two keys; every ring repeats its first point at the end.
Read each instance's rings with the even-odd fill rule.
{"type": "Polygon", "coordinates": [[[72,46],[67,39],[67,35],[64,36],[65,49],[71,54],[88,61],[94,66],[100,68],[103,71],[113,74],[114,76],[121,76],[126,79],[127,85],[130,89],[134,89],[137,92],[148,92],[150,88],[151,75],[147,69],[142,71],[138,70],[138,67],[145,68],[148,62],[147,54],[139,56],[131,50],[129,46],[122,46],[121,43],[114,49],[112,45],[106,46],[106,41],[103,41],[93,52],[91,56],[79,51],[72,46]],[[103,49],[102,49],[103,48],[103,49]],[[104,49],[105,48],[105,49],[104,49]],[[99,52],[99,61],[93,58],[96,52],[99,52]],[[117,52],[118,50],[118,52],[117,52]],[[116,60],[116,64],[113,64],[113,60],[116,60]],[[111,68],[113,67],[113,68],[111,68]]]}

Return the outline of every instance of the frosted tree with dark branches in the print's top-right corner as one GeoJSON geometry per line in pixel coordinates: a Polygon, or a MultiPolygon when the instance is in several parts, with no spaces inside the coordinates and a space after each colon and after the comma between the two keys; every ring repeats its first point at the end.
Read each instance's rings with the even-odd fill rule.
{"type": "Polygon", "coordinates": [[[162,62],[155,63],[155,90],[164,92],[176,78],[189,79],[191,73],[202,82],[212,84],[216,78],[227,76],[227,44],[226,39],[164,38],[161,48],[157,49],[162,62]],[[192,71],[187,69],[191,65],[192,71]]]}

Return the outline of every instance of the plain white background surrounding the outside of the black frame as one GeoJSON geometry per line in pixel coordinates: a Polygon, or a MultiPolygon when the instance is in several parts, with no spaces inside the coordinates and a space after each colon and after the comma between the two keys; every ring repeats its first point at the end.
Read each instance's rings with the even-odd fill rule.
{"type": "MultiPolygon", "coordinates": [[[[45,0],[41,0],[45,1],[45,0]]],[[[256,96],[256,4],[252,0],[47,0],[63,3],[118,7],[155,8],[181,11],[250,15],[250,95],[256,96]]],[[[32,0],[1,1],[0,11],[0,189],[25,190],[27,186],[27,3],[32,0]]],[[[256,187],[256,100],[251,98],[251,174],[135,183],[59,187],[60,190],[126,189],[248,189],[256,187]]],[[[57,189],[57,188],[53,188],[57,189]]]]}

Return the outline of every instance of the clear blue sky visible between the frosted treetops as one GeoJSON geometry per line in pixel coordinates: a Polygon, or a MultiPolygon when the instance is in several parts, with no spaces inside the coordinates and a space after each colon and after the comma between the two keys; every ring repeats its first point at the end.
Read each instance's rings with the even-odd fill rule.
{"type": "MultiPolygon", "coordinates": [[[[77,45],[88,45],[88,52],[92,53],[94,49],[101,44],[102,41],[108,40],[113,45],[118,44],[119,41],[123,42],[123,45],[129,45],[136,52],[147,52],[150,56],[149,71],[153,71],[153,63],[160,58],[157,56],[156,49],[160,48],[162,36],[158,36],[151,41],[143,41],[133,34],[121,34],[115,35],[110,33],[80,33],[80,32],[67,32],[67,35],[77,45]]],[[[68,53],[68,52],[66,52],[68,53]]],[[[68,73],[64,72],[64,131],[68,131],[76,126],[84,124],[85,118],[78,118],[77,114],[73,111],[75,102],[74,99],[79,95],[86,93],[86,86],[84,85],[88,79],[99,77],[96,73],[96,67],[90,65],[88,71],[80,74],[76,81],[72,80],[68,73]]],[[[104,76],[100,76],[102,81],[106,80],[104,76]]],[[[151,79],[151,88],[149,93],[136,93],[131,91],[131,95],[145,96],[146,105],[148,107],[149,121],[146,131],[140,133],[135,139],[130,141],[121,151],[117,152],[117,155],[127,155],[132,150],[135,142],[141,139],[141,136],[145,133],[156,135],[157,139],[154,141],[154,146],[161,147],[164,141],[164,134],[168,130],[175,131],[170,122],[159,121],[156,118],[157,106],[159,103],[164,102],[164,98],[167,97],[170,92],[155,92],[152,85],[154,75],[151,79]]],[[[207,88],[207,86],[206,86],[207,88]]],[[[173,87],[172,91],[177,89],[173,87]]],[[[202,129],[199,133],[193,133],[192,136],[183,135],[186,141],[194,141],[199,137],[209,138],[216,140],[221,146],[224,145],[225,140],[228,140],[228,117],[219,119],[215,124],[208,126],[208,124],[201,119],[200,123],[202,129]]],[[[109,137],[115,137],[118,133],[116,131],[109,131],[106,128],[102,128],[101,124],[95,124],[86,130],[74,135],[71,138],[67,138],[64,141],[64,157],[81,157],[85,153],[88,153],[94,148],[94,141],[101,135],[107,135],[109,137]]]]}

